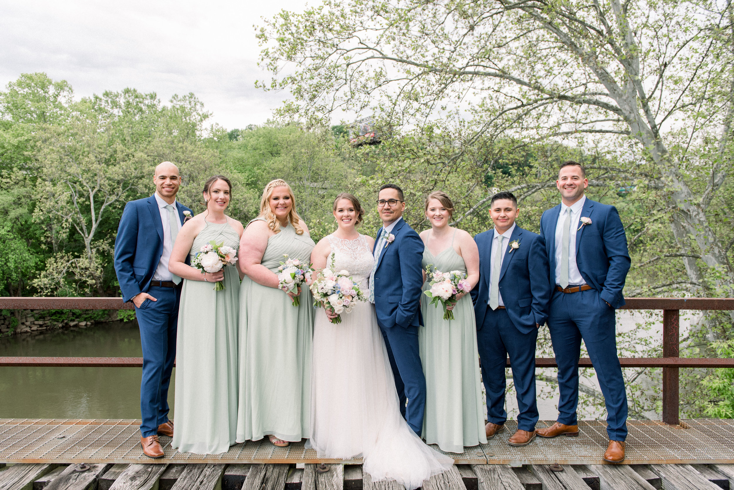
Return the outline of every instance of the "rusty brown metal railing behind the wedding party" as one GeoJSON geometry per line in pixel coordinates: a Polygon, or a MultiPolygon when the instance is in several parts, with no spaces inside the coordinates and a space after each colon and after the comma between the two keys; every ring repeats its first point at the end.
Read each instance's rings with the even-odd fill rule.
{"type": "MultiPolygon", "coordinates": [[[[734,359],[679,357],[680,310],[734,310],[734,298],[625,298],[622,310],[663,310],[663,356],[622,357],[622,367],[663,368],[663,421],[679,422],[680,367],[734,367],[734,359]]],[[[132,310],[121,298],[1,298],[3,310],[132,310]]],[[[509,359],[507,360],[509,366],[509,359]]],[[[0,367],[142,367],[142,357],[1,357],[0,367]]],[[[537,357],[536,367],[558,367],[553,357],[537,357]]],[[[579,367],[593,367],[587,357],[579,367]]]]}

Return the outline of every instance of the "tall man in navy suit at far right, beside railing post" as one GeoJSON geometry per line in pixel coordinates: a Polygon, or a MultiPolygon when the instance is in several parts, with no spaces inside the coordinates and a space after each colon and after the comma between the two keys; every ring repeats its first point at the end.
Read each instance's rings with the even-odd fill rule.
{"type": "Polygon", "coordinates": [[[577,436],[578,357],[581,340],[589,351],[607,411],[609,445],[604,459],[625,458],[627,395],[617,357],[615,308],[625,304],[622,288],[630,255],[625,228],[614,206],[587,199],[584,167],[567,161],[556,186],[561,204],[543,213],[540,233],[556,285],[548,312],[548,330],[558,362],[561,395],[556,423],[539,429],[542,437],[577,436]]]}

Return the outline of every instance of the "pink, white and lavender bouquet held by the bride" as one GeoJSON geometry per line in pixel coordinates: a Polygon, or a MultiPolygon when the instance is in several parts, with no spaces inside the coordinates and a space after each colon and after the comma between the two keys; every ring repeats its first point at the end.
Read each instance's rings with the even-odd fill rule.
{"type": "Polygon", "coordinates": [[[337,315],[330,322],[341,323],[341,312],[352,312],[357,301],[366,301],[367,298],[354,279],[349,277],[349,271],[333,271],[334,254],[331,255],[331,263],[332,268],[324,268],[316,274],[310,290],[316,299],[313,307],[330,307],[337,315]]]}

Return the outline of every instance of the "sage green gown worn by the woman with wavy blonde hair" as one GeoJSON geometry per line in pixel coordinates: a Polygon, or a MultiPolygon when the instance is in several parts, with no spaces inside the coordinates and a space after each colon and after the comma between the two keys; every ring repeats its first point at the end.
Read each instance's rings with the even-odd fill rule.
{"type": "MultiPolygon", "coordinates": [[[[257,218],[262,219],[262,218],[257,218]]],[[[255,220],[252,220],[255,221],[255,220]]],[[[310,263],[313,240],[288,223],[268,239],[261,264],[277,274],[283,254],[310,263]]],[[[301,288],[294,307],[282,290],[242,280],[239,312],[237,442],[274,435],[300,441],[310,433],[313,298],[301,288]]]]}

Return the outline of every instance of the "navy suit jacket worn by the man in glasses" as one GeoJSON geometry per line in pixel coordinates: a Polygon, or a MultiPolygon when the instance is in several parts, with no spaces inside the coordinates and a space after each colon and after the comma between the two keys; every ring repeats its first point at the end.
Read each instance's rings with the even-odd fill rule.
{"type": "MultiPolygon", "coordinates": [[[[382,233],[382,228],[379,233],[382,233]]],[[[392,233],[395,240],[382,249],[374,272],[374,284],[370,285],[374,290],[377,320],[385,328],[419,326],[423,324],[424,244],[404,219],[395,225],[392,233]]],[[[377,241],[374,246],[377,246],[377,241]]],[[[372,253],[374,255],[374,247],[372,253]]]]}

